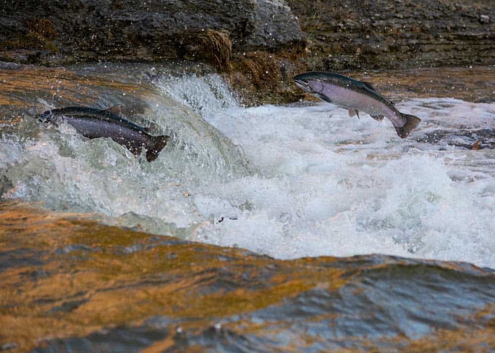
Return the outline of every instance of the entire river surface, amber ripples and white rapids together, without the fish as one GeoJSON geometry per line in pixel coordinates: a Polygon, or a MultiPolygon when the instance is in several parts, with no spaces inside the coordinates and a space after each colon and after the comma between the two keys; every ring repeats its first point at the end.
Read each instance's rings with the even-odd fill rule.
{"type": "Polygon", "coordinates": [[[204,67],[1,64],[0,350],[493,352],[495,91],[462,85],[495,80],[466,70],[469,101],[395,78],[401,139],[204,67]],[[34,118],[115,104],[155,161],[34,118]]]}

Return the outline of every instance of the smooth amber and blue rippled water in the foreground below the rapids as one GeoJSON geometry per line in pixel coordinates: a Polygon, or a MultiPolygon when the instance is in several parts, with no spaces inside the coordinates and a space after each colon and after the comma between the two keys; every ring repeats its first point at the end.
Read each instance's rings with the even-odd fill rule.
{"type": "Polygon", "coordinates": [[[473,349],[495,274],[370,255],[280,261],[0,204],[0,339],[19,352],[473,349]]]}

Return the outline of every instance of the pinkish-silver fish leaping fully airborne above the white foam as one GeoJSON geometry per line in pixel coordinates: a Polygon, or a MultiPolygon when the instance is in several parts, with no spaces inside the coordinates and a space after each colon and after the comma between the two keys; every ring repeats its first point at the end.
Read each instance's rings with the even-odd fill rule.
{"type": "Polygon", "coordinates": [[[349,110],[349,115],[363,111],[376,120],[387,117],[397,134],[405,138],[421,119],[400,113],[394,104],[378,93],[369,83],[357,81],[333,72],[311,71],[294,77],[296,85],[326,102],[349,110]]]}

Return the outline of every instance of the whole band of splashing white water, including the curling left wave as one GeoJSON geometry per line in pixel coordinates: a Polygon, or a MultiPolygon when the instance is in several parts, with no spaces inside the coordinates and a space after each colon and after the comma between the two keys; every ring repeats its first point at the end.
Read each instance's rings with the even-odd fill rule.
{"type": "Polygon", "coordinates": [[[196,112],[168,98],[149,104],[147,116],[179,141],[157,163],[70,127],[30,140],[4,134],[2,198],[123,225],[137,217],[156,233],[197,224],[183,236],[276,258],[383,253],[495,267],[495,150],[461,147],[477,138],[492,146],[495,104],[402,102],[398,110],[422,123],[401,139],[387,119],[349,118],[328,103],[242,107],[218,75],[154,84],[196,112]],[[188,118],[167,120],[171,110],[188,118]]]}

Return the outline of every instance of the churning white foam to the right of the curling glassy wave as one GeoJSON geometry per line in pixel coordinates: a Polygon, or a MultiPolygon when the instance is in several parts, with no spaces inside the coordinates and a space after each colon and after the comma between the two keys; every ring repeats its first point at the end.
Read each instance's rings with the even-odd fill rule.
{"type": "Polygon", "coordinates": [[[409,139],[388,120],[349,118],[327,103],[206,116],[259,175],[210,190],[253,209],[195,239],[276,258],[385,253],[495,267],[493,150],[412,139],[440,128],[494,129],[495,104],[428,98],[397,107],[423,120],[409,139]]]}

